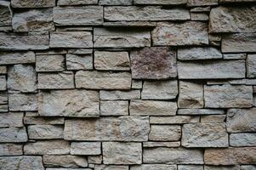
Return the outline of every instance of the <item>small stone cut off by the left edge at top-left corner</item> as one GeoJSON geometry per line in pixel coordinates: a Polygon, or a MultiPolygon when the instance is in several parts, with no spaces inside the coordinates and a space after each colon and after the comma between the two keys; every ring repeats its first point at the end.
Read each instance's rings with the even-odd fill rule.
{"type": "Polygon", "coordinates": [[[0,26],[12,25],[12,11],[8,1],[0,1],[0,26]]]}

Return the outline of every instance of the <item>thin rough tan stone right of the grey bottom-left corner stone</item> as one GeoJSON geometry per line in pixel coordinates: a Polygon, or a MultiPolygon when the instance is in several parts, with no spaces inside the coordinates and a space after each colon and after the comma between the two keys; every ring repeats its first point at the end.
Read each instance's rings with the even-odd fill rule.
{"type": "Polygon", "coordinates": [[[82,156],[52,156],[44,155],[45,167],[88,167],[88,161],[82,156]]]}

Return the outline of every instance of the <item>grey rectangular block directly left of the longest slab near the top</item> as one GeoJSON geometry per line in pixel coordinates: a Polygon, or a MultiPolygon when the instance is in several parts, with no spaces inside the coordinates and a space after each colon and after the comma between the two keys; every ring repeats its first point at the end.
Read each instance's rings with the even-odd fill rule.
{"type": "MultiPolygon", "coordinates": [[[[84,2],[84,1],[83,1],[84,2]]],[[[102,25],[103,7],[55,7],[54,23],[61,26],[102,25]]]]}

